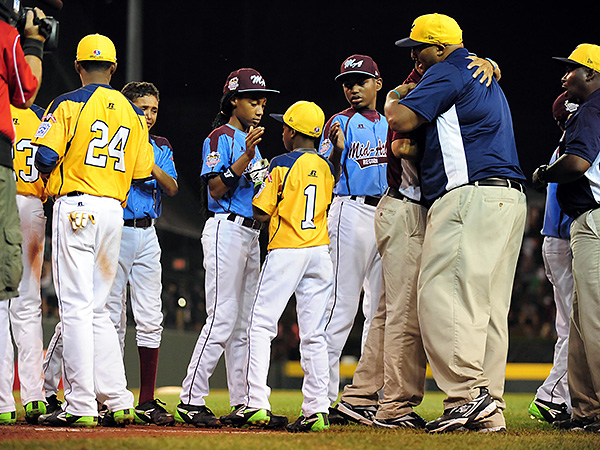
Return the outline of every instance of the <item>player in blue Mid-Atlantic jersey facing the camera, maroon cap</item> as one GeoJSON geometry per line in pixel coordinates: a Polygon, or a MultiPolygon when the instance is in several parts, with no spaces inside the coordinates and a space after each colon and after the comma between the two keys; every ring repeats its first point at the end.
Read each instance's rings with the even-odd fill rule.
{"type": "Polygon", "coordinates": [[[381,297],[381,257],[375,242],[375,208],[387,189],[387,122],[376,111],[382,80],[369,56],[352,55],[336,77],[350,108],[329,119],[321,154],[333,163],[336,179],[328,230],[334,288],[325,328],[329,354],[329,399],[339,390],[339,360],[364,288],[362,344],[381,297]]]}

